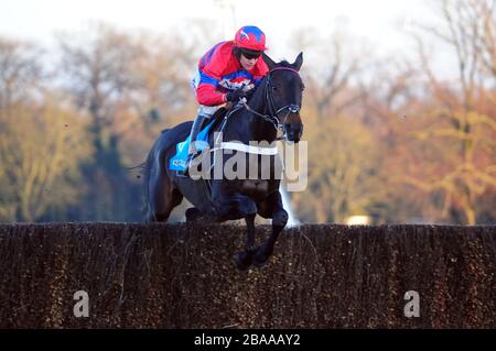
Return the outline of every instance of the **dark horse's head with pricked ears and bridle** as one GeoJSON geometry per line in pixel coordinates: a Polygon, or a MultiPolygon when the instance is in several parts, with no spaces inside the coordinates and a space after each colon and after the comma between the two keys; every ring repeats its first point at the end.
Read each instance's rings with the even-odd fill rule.
{"type": "Polygon", "coordinates": [[[266,89],[271,114],[283,125],[285,140],[298,143],[303,134],[300,110],[304,85],[299,74],[303,53],[292,64],[285,61],[277,64],[266,54],[263,61],[269,67],[266,89]]]}

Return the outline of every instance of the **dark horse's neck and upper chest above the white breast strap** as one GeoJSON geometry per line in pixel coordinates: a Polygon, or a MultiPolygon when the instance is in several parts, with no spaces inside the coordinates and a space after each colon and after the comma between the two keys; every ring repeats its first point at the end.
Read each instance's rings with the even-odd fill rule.
{"type": "MultiPolygon", "coordinates": [[[[260,84],[263,85],[265,81],[260,84]]],[[[265,94],[265,85],[258,87],[257,91],[255,91],[252,98],[248,102],[248,106],[258,113],[269,114],[265,94]]],[[[228,135],[226,135],[228,140],[238,140],[245,144],[248,144],[250,141],[267,141],[271,143],[276,140],[277,130],[269,121],[256,116],[245,108],[235,113],[236,116],[230,117],[236,118],[236,121],[230,123],[231,128],[228,135]]]]}

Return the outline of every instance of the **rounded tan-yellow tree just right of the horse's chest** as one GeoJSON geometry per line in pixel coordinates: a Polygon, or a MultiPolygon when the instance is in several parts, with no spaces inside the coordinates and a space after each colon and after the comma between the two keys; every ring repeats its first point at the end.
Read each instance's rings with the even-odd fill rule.
{"type": "Polygon", "coordinates": [[[366,215],[382,188],[377,175],[379,145],[358,119],[338,116],[309,125],[309,188],[293,194],[308,221],[344,223],[366,215]]]}

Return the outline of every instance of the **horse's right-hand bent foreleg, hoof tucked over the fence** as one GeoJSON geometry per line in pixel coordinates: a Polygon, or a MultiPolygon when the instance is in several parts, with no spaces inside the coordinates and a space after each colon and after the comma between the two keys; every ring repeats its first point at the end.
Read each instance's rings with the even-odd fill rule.
{"type": "Polygon", "coordinates": [[[267,263],[280,232],[288,223],[288,212],[282,207],[281,194],[279,191],[272,193],[263,202],[259,204],[259,213],[265,218],[272,218],[272,232],[254,255],[254,265],[257,267],[267,263]]]}

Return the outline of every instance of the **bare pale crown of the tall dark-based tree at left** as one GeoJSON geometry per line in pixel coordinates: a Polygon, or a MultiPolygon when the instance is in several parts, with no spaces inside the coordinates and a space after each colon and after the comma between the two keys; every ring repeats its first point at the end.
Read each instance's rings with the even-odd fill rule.
{"type": "Polygon", "coordinates": [[[97,23],[82,37],[61,34],[63,79],[79,108],[95,125],[112,122],[118,100],[137,85],[132,67],[140,52],[131,37],[97,23]]]}

